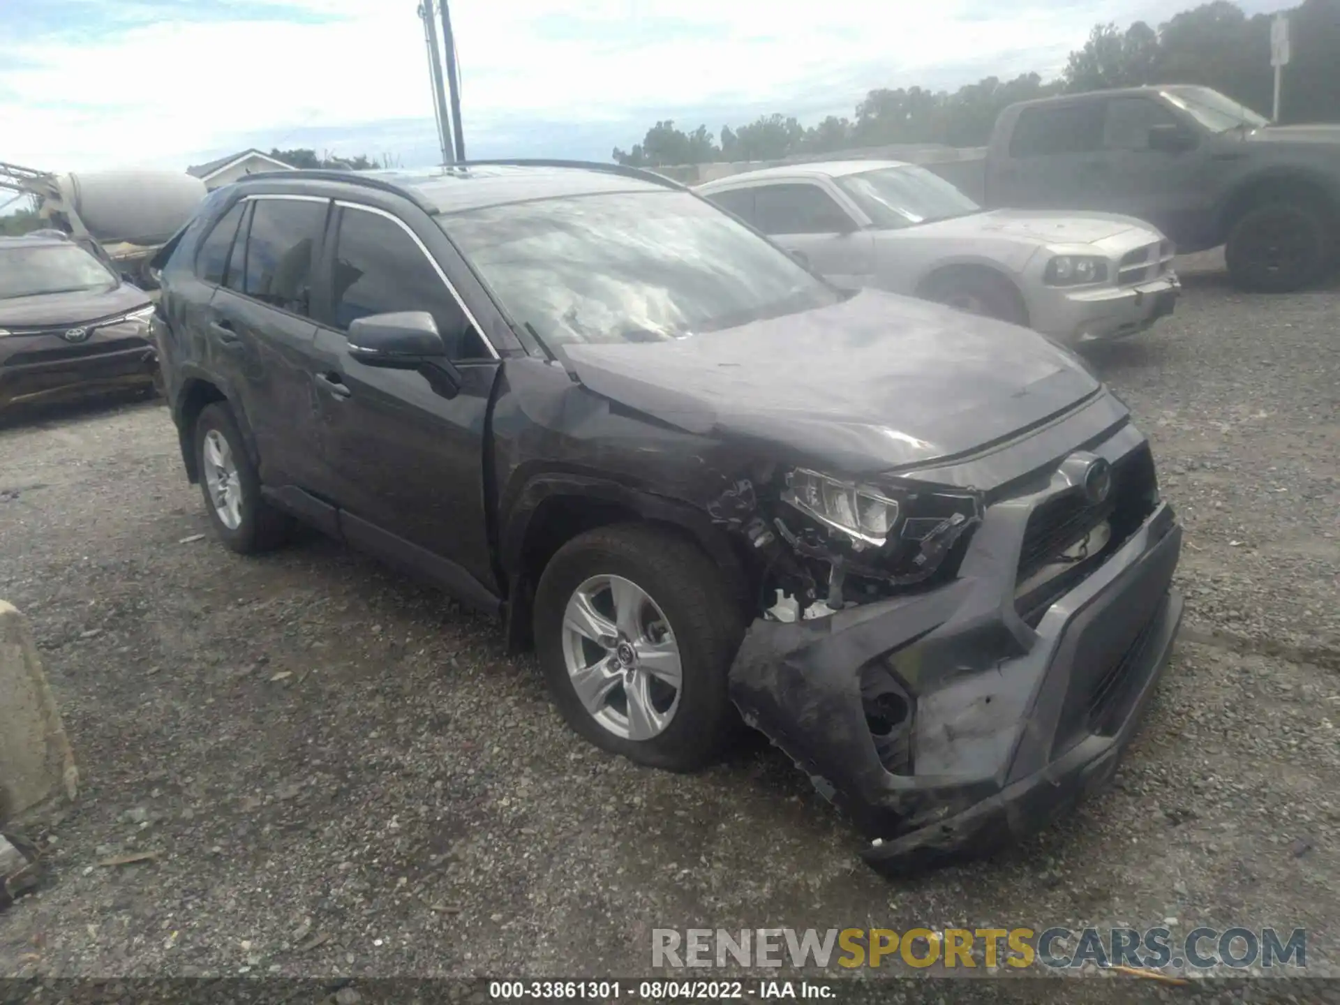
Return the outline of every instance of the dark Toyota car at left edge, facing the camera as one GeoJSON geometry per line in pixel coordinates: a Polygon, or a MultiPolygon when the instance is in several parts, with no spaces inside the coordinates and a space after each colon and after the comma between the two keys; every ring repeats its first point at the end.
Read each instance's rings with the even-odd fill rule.
{"type": "Polygon", "coordinates": [[[0,237],[0,409],[151,386],[153,310],[71,239],[0,237]]]}

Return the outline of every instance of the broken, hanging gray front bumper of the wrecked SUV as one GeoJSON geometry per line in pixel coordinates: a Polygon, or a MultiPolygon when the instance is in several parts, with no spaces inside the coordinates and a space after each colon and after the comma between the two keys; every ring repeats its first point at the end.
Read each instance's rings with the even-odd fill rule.
{"type": "Polygon", "coordinates": [[[1016,610],[1037,505],[988,508],[945,586],[756,620],[732,666],[745,720],[874,839],[876,867],[982,855],[1044,827],[1111,775],[1168,659],[1172,509],[1152,504],[1038,614],[1016,610]],[[880,689],[894,698],[876,709],[880,689]]]}

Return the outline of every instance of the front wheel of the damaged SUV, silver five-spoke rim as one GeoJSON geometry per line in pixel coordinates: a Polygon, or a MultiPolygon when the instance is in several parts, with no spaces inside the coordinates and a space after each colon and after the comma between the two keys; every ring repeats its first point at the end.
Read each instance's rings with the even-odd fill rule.
{"type": "Polygon", "coordinates": [[[568,725],[677,772],[716,761],[738,729],[726,674],[742,622],[695,544],[638,524],[574,537],[535,598],[540,667],[568,725]]]}

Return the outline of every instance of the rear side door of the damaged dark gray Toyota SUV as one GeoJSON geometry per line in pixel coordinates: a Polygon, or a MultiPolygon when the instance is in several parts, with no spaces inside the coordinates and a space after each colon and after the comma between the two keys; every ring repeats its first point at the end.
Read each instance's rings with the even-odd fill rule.
{"type": "Polygon", "coordinates": [[[206,356],[237,395],[267,485],[320,478],[311,386],[314,263],[331,201],[249,196],[224,281],[209,302],[206,356]]]}

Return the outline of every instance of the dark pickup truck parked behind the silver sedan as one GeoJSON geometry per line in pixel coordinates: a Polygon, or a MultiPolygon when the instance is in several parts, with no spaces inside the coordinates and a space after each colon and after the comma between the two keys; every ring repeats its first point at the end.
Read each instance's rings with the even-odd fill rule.
{"type": "Polygon", "coordinates": [[[1226,245],[1245,289],[1305,287],[1340,248],[1340,126],[1273,126],[1209,87],[1022,102],[996,121],[986,204],[1147,220],[1181,252],[1226,245]]]}

